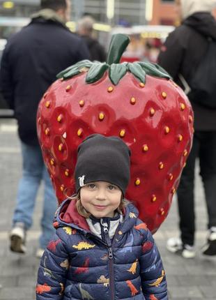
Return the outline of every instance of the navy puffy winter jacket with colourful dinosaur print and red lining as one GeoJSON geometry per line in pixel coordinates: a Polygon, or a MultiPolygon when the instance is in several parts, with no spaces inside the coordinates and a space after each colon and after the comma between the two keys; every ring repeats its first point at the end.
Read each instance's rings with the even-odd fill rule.
{"type": "Polygon", "coordinates": [[[65,200],[56,212],[56,236],[38,270],[37,300],[167,300],[167,283],[151,232],[128,204],[112,241],[102,240],[65,200]]]}

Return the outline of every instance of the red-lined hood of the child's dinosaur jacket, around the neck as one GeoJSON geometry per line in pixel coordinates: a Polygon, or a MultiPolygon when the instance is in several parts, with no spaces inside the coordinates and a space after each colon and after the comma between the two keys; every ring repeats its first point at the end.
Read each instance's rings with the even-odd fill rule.
{"type": "MultiPolygon", "coordinates": [[[[138,215],[137,208],[132,203],[125,207],[125,211],[123,212],[124,221],[121,227],[123,233],[135,225],[138,215]]],[[[76,202],[70,199],[62,202],[59,209],[57,209],[53,225],[55,228],[70,226],[84,233],[90,232],[86,218],[79,215],[76,202]]]]}

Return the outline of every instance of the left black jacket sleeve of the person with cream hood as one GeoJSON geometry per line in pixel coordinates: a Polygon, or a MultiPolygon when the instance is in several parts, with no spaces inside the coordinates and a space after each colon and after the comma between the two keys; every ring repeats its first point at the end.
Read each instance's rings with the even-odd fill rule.
{"type": "Polygon", "coordinates": [[[184,47],[180,43],[178,33],[173,31],[161,47],[157,63],[173,77],[174,81],[177,80],[178,73],[180,73],[183,55],[184,47]]]}

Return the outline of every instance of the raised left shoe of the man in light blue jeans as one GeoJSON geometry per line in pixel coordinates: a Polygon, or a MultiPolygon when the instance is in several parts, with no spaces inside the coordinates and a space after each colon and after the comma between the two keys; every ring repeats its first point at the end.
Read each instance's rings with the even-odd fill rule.
{"type": "Polygon", "coordinates": [[[15,223],[10,232],[10,250],[16,253],[26,253],[26,230],[24,223],[15,223]]]}

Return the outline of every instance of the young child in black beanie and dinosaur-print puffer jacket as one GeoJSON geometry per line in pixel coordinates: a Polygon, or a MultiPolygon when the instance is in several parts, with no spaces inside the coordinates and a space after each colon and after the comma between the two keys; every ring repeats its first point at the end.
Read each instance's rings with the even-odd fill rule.
{"type": "Polygon", "coordinates": [[[120,138],[94,134],[79,145],[77,194],[56,212],[37,300],[168,299],[151,232],[124,199],[129,180],[130,149],[120,138]]]}

